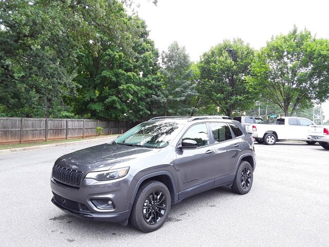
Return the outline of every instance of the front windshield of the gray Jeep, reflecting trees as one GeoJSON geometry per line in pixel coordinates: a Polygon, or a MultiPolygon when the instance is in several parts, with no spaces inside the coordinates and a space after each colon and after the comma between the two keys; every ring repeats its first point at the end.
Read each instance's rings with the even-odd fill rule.
{"type": "Polygon", "coordinates": [[[175,122],[143,122],[116,139],[116,144],[164,148],[183,127],[184,125],[175,122]]]}

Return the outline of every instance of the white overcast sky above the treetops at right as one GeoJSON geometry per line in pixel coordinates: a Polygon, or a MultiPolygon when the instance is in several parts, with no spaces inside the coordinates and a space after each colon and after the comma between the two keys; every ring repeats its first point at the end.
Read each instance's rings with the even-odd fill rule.
{"type": "MultiPolygon", "coordinates": [[[[329,39],[325,0],[158,0],[157,6],[147,0],[135,2],[159,51],[178,41],[192,61],[223,39],[239,37],[259,49],[272,35],[285,34],[294,25],[329,39]]],[[[322,108],[329,119],[329,102],[322,108]]]]}

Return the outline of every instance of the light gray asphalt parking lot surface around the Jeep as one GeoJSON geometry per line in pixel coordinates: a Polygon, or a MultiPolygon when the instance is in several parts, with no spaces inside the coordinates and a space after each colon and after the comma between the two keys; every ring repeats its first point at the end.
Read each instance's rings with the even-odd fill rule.
{"type": "Polygon", "coordinates": [[[50,202],[56,158],[97,144],[0,155],[1,246],[329,246],[329,150],[319,145],[255,144],[247,195],[200,193],[144,234],[69,216],[50,202]]]}

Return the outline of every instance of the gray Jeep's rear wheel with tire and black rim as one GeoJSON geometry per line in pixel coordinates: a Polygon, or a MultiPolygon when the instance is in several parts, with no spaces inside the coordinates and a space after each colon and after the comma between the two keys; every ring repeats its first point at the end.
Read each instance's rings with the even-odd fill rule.
{"type": "Polygon", "coordinates": [[[233,181],[232,190],[233,192],[244,195],[251,189],[253,181],[253,170],[249,162],[243,161],[237,168],[235,179],[233,181]]]}

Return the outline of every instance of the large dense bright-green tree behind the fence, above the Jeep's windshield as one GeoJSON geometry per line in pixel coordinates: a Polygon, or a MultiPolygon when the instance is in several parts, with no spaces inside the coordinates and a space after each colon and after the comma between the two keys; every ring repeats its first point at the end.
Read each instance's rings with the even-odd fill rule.
{"type": "Polygon", "coordinates": [[[78,60],[78,97],[71,98],[77,114],[100,119],[127,119],[136,121],[150,115],[152,95],[158,87],[158,51],[148,39],[144,21],[127,16],[119,3],[103,8],[104,17],[95,15],[91,20],[101,24],[98,33],[84,43],[78,60]],[[101,19],[101,20],[99,20],[101,19]],[[113,23],[122,27],[113,31],[113,23]],[[120,34],[124,43],[117,42],[120,34]],[[127,47],[130,47],[127,49],[127,47]]]}

